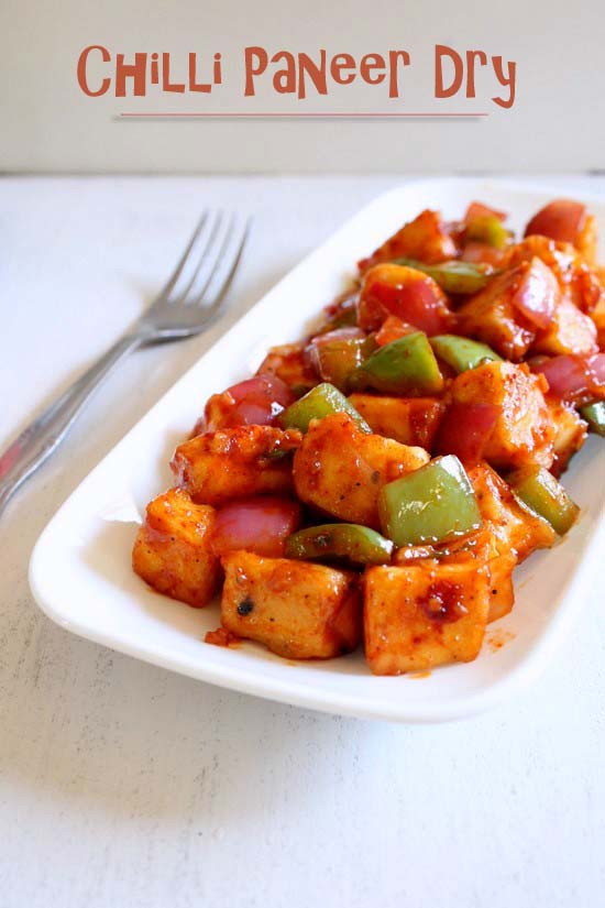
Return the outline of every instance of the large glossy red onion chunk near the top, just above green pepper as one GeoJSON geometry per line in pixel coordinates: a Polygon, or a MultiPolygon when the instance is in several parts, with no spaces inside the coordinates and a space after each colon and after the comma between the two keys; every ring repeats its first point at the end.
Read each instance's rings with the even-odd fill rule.
{"type": "Polygon", "coordinates": [[[428,335],[447,331],[452,322],[446,295],[428,274],[404,265],[375,265],[364,278],[359,322],[374,330],[389,314],[428,335]]]}

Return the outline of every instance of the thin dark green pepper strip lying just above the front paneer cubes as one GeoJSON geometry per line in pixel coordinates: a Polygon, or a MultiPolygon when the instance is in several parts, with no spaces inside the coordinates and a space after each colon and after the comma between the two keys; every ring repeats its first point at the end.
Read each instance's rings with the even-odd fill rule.
{"type": "Polygon", "coordinates": [[[386,565],[393,543],[360,524],[322,524],[299,529],[286,539],[286,558],[331,560],[352,565],[386,565]]]}

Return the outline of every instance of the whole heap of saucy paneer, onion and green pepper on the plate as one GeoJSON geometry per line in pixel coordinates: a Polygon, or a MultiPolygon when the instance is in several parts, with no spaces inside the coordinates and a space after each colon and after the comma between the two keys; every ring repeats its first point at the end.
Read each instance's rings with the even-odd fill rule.
{"type": "Polygon", "coordinates": [[[376,675],[474,659],[513,571],[578,517],[560,477],[605,435],[595,219],[552,201],[518,240],[473,203],[359,263],[299,343],[213,394],[147,507],[134,570],[207,642],[288,659],[363,646],[376,675]]]}

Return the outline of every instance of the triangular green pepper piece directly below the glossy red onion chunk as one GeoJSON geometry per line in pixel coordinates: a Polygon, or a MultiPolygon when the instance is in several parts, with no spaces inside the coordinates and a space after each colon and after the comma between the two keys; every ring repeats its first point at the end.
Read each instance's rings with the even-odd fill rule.
{"type": "Polygon", "coordinates": [[[443,376],[424,331],[414,331],[372,353],[351,375],[355,387],[386,394],[439,394],[443,376]]]}

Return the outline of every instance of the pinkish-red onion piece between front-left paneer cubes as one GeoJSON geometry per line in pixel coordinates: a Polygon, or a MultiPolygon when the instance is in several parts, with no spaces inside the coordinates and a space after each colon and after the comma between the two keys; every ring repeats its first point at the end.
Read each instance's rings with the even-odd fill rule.
{"type": "Polygon", "coordinates": [[[219,555],[237,549],[279,558],[286,539],[300,525],[300,504],[261,495],[229,502],[216,513],[212,548],[219,555]]]}

